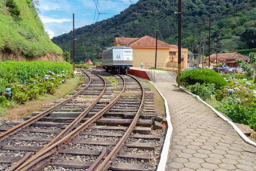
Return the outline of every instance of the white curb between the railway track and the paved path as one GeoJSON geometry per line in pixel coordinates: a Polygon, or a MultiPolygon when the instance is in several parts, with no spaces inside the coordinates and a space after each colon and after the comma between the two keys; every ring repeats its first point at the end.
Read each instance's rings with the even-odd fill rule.
{"type": "MultiPolygon", "coordinates": [[[[149,82],[151,84],[153,84],[151,81],[149,81],[149,82]]],[[[157,89],[157,87],[155,85],[154,85],[154,87],[157,89]]],[[[171,143],[171,136],[172,136],[173,128],[172,128],[171,116],[170,116],[170,113],[169,113],[167,100],[158,89],[157,89],[157,91],[160,94],[160,96],[162,96],[162,98],[164,99],[164,104],[165,104],[165,108],[166,108],[166,120],[167,120],[167,123],[168,123],[166,138],[164,140],[160,162],[159,162],[158,167],[157,167],[157,171],[164,171],[165,167],[166,167],[166,162],[167,162],[167,159],[168,159],[168,152],[169,152],[169,146],[170,146],[170,143],[171,143]]]]}

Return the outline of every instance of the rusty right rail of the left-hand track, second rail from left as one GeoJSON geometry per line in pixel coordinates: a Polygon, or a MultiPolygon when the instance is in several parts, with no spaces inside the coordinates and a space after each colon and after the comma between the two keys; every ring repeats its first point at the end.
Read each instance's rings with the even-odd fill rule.
{"type": "MultiPolygon", "coordinates": [[[[83,70],[82,70],[83,71],[83,70]]],[[[84,72],[84,71],[83,71],[84,72]]],[[[91,71],[90,71],[91,72],[91,71]]],[[[93,72],[92,72],[93,73],[93,72]]],[[[95,74],[95,73],[93,73],[95,74]]],[[[95,74],[97,75],[97,74],[95,74]]],[[[89,75],[88,75],[89,76],[89,75]]],[[[53,143],[57,142],[58,140],[60,140],[63,136],[67,135],[68,133],[70,133],[73,128],[75,128],[75,126],[81,122],[81,120],[87,116],[87,114],[90,112],[90,110],[95,106],[95,104],[99,101],[99,99],[103,96],[105,90],[106,90],[106,81],[104,78],[102,78],[100,75],[99,78],[101,78],[104,82],[104,88],[102,90],[102,92],[99,94],[99,96],[78,116],[76,117],[76,119],[73,120],[73,122],[71,122],[64,130],[61,131],[61,133],[59,133],[54,139],[52,139],[51,142],[49,142],[47,145],[45,145],[43,148],[41,148],[41,150],[39,150],[37,153],[40,153],[41,151],[43,151],[44,149],[48,148],[49,146],[51,146],[53,143]]],[[[90,78],[90,76],[89,76],[90,78]]],[[[90,78],[91,80],[91,78],[90,78]]],[[[36,154],[35,154],[36,155],[36,154]]],[[[34,156],[35,156],[34,155],[34,156]]],[[[27,160],[27,162],[30,162],[33,160],[34,156],[32,156],[30,159],[27,160]]],[[[9,169],[8,171],[14,171],[17,167],[23,167],[24,164],[20,163],[19,165],[15,165],[16,167],[12,167],[12,169],[9,169]],[[21,166],[20,166],[21,165],[21,166]]]]}

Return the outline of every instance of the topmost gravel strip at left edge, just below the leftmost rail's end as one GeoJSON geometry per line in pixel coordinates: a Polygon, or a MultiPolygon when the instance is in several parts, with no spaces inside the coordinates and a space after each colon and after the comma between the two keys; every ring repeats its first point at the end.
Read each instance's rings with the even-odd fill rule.
{"type": "Polygon", "coordinates": [[[1,145],[20,145],[29,147],[44,147],[48,142],[38,142],[38,141],[21,141],[21,140],[4,140],[1,145]]]}

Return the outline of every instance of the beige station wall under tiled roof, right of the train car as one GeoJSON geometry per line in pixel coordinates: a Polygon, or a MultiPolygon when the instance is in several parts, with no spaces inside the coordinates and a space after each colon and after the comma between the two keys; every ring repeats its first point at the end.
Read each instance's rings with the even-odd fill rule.
{"type": "MultiPolygon", "coordinates": [[[[132,47],[132,46],[131,46],[132,47]]],[[[156,49],[150,47],[132,47],[134,48],[134,67],[140,67],[141,61],[145,63],[155,63],[156,49]]],[[[169,48],[157,48],[157,63],[166,63],[169,61],[169,48]]],[[[154,66],[154,64],[152,64],[154,66]]],[[[159,67],[162,67],[159,66],[159,67]]],[[[165,67],[165,66],[164,66],[165,67]]]]}

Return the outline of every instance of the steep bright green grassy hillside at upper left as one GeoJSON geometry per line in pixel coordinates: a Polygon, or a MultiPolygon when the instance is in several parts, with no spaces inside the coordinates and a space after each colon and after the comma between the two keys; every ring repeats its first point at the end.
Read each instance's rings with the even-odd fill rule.
{"type": "Polygon", "coordinates": [[[0,0],[0,51],[37,58],[62,50],[44,31],[34,0],[0,0]]]}

